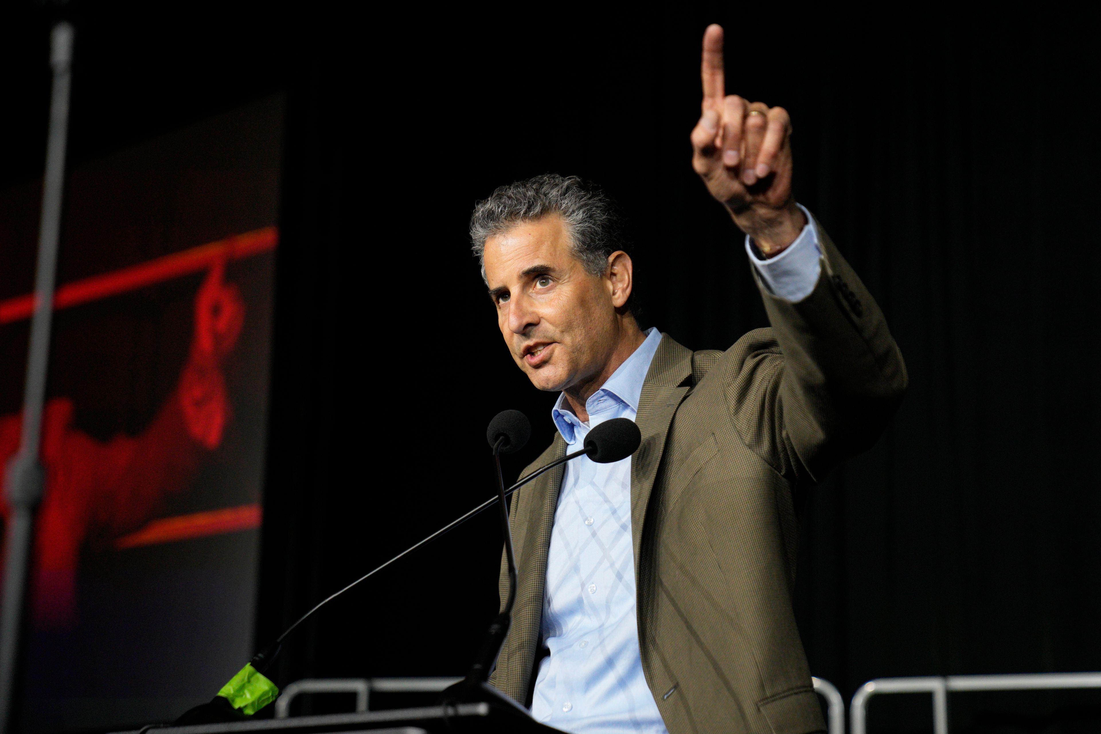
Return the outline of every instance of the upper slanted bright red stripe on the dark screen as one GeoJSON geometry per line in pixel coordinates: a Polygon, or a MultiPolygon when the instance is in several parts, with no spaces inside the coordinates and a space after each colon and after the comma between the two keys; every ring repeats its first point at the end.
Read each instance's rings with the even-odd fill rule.
{"type": "MultiPolygon", "coordinates": [[[[112,273],[66,283],[54,294],[54,310],[86,304],[128,291],[137,291],[182,275],[198,273],[210,267],[219,258],[240,260],[274,250],[277,241],[279,231],[274,227],[265,227],[123,267],[112,273]]],[[[0,302],[0,325],[30,318],[31,314],[34,313],[35,300],[34,294],[28,294],[0,302]]]]}

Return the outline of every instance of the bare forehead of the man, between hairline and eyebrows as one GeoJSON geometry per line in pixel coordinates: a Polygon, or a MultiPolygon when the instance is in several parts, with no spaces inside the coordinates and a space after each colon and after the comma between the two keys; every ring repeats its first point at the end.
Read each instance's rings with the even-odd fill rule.
{"type": "Polygon", "coordinates": [[[566,222],[557,215],[520,222],[488,238],[482,258],[490,287],[520,277],[528,267],[566,269],[576,262],[566,222]]]}

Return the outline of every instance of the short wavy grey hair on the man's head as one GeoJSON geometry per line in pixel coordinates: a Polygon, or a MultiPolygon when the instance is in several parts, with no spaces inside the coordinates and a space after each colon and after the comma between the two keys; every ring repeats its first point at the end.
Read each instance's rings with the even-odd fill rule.
{"type": "MultiPolygon", "coordinates": [[[[486,240],[520,222],[557,213],[566,222],[574,255],[590,275],[608,271],[608,255],[622,250],[620,221],[611,200],[577,176],[544,174],[501,186],[475,205],[470,242],[486,281],[486,240]]],[[[488,283],[488,281],[487,281],[488,283]]]]}

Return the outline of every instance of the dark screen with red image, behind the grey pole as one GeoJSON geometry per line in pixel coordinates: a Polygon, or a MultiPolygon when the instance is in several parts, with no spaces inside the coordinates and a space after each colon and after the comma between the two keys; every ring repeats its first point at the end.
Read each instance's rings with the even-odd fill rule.
{"type": "MultiPolygon", "coordinates": [[[[69,172],[21,726],[171,720],[251,655],[280,98],[69,172]]],[[[41,179],[0,191],[0,460],[41,179]]]]}

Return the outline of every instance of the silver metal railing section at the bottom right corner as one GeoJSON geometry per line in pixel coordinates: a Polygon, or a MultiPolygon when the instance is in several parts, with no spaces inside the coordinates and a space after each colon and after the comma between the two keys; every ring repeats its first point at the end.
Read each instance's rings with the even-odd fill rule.
{"type": "Polygon", "coordinates": [[[868,701],[883,693],[933,693],[933,731],[948,734],[948,693],[953,691],[1042,691],[1101,688],[1101,672],[1045,672],[1007,676],[928,676],[877,678],[852,697],[851,734],[865,734],[868,701]]]}

